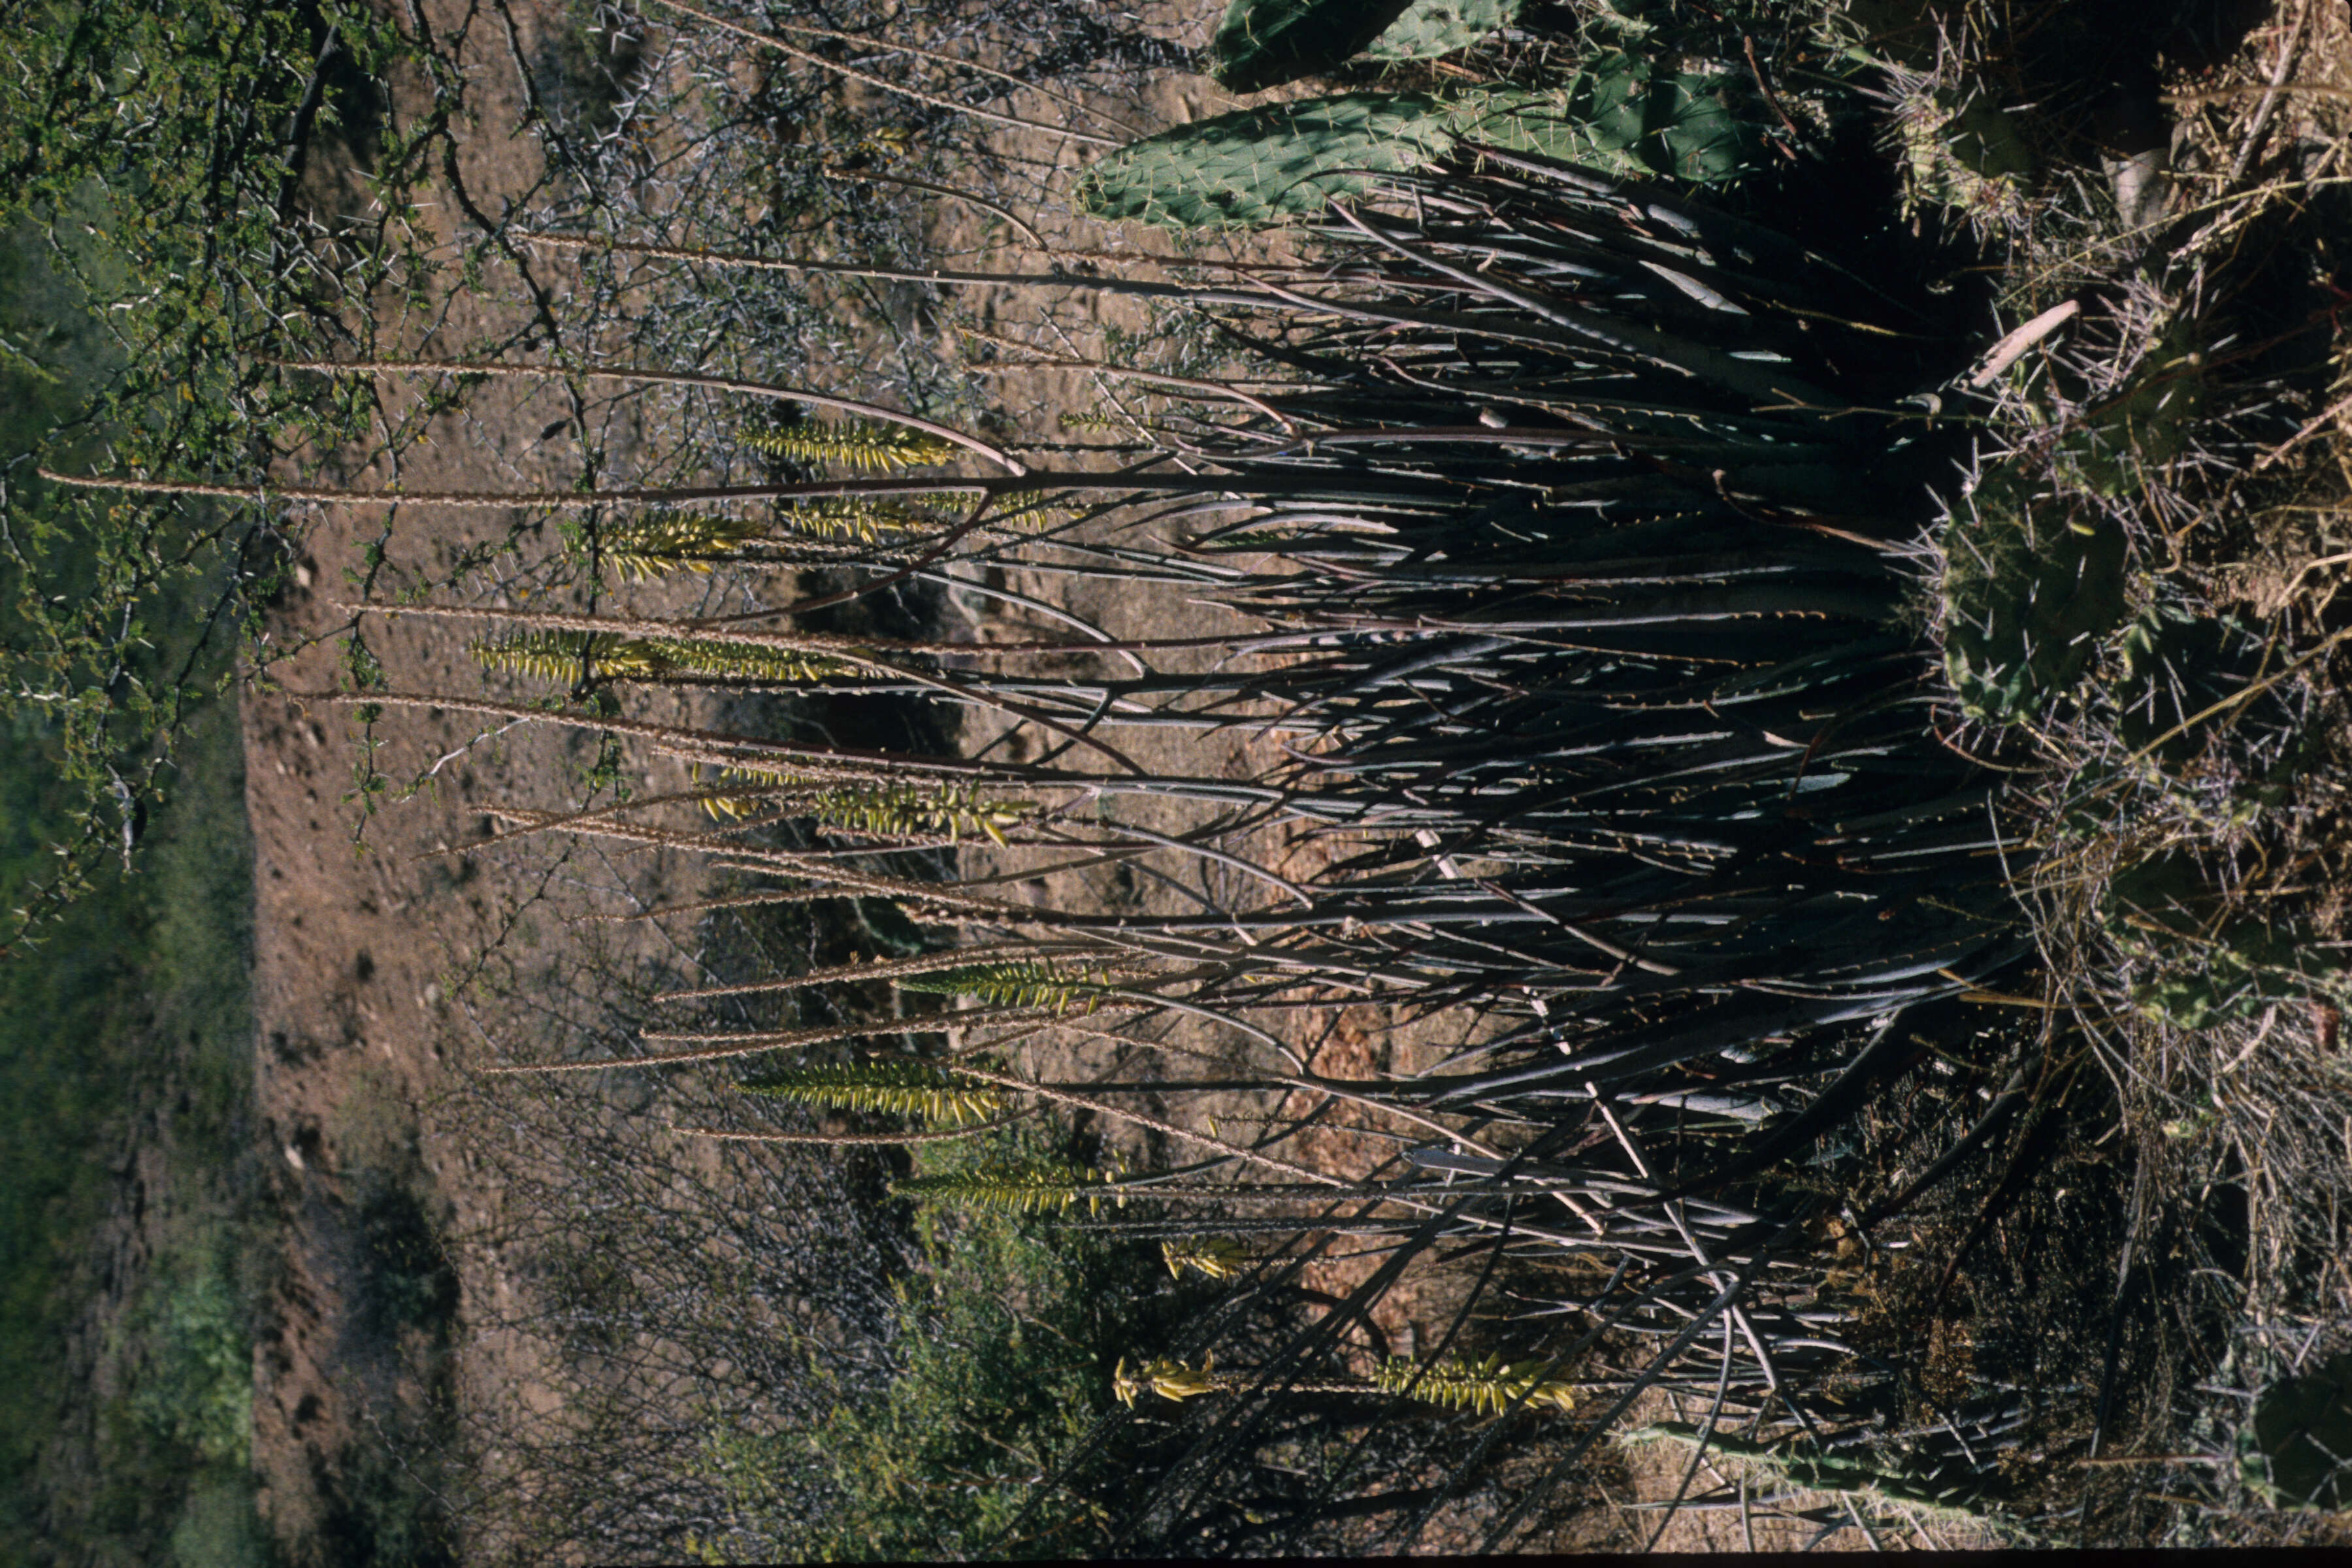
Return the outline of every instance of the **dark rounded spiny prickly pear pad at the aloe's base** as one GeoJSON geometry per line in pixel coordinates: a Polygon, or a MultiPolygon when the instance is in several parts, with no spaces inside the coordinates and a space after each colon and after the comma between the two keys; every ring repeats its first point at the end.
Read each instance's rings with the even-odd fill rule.
{"type": "Polygon", "coordinates": [[[1943,661],[1973,719],[2032,715],[2124,625],[2117,524],[2037,505],[2013,468],[1978,480],[1945,529],[1943,552],[1943,661]]]}

